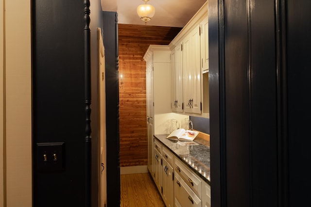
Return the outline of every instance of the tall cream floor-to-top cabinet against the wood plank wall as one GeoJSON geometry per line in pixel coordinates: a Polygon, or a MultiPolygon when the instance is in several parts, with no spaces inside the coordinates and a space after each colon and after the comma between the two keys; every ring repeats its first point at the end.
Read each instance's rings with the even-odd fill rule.
{"type": "Polygon", "coordinates": [[[165,116],[172,112],[171,50],[168,46],[150,45],[144,55],[146,61],[146,96],[148,128],[148,170],[155,178],[153,135],[167,133],[162,125],[165,116]],[[157,117],[157,118],[155,118],[157,117]]]}

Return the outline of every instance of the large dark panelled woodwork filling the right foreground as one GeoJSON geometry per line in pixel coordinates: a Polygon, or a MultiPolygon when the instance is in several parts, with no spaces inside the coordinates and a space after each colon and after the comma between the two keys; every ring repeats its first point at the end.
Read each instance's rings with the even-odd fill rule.
{"type": "Polygon", "coordinates": [[[310,203],[310,7],[208,1],[213,207],[310,203]]]}

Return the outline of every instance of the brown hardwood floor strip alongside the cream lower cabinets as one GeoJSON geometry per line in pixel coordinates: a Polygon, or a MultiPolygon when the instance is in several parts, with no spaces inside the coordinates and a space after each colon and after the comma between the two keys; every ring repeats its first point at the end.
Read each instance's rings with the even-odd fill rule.
{"type": "Polygon", "coordinates": [[[149,173],[121,175],[121,207],[165,207],[149,173]]]}

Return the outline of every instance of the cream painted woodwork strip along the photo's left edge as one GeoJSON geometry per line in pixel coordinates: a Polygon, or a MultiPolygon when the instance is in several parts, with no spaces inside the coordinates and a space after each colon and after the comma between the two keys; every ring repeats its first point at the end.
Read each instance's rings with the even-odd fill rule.
{"type": "Polygon", "coordinates": [[[5,163],[5,167],[3,163],[0,167],[0,206],[30,207],[33,205],[31,2],[0,0],[0,4],[3,17],[0,73],[4,75],[0,78],[0,108],[3,109],[0,118],[4,118],[0,159],[5,163]]]}

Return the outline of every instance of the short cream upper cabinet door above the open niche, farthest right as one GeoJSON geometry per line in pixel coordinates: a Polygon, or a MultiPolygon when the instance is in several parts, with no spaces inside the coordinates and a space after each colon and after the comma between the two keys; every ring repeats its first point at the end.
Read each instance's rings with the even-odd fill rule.
{"type": "Polygon", "coordinates": [[[202,71],[206,71],[208,67],[208,16],[201,22],[201,64],[202,71]]]}

